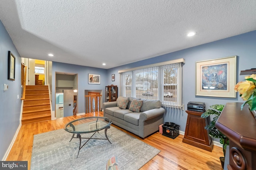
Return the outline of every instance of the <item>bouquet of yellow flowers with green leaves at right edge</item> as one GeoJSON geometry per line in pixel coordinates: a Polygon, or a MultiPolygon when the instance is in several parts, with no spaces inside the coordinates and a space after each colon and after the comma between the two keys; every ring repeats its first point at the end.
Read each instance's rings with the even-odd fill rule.
{"type": "Polygon", "coordinates": [[[256,110],[256,74],[245,76],[244,82],[238,82],[236,84],[235,91],[239,92],[243,100],[246,100],[241,105],[241,110],[245,104],[249,105],[251,111],[256,110]]]}

